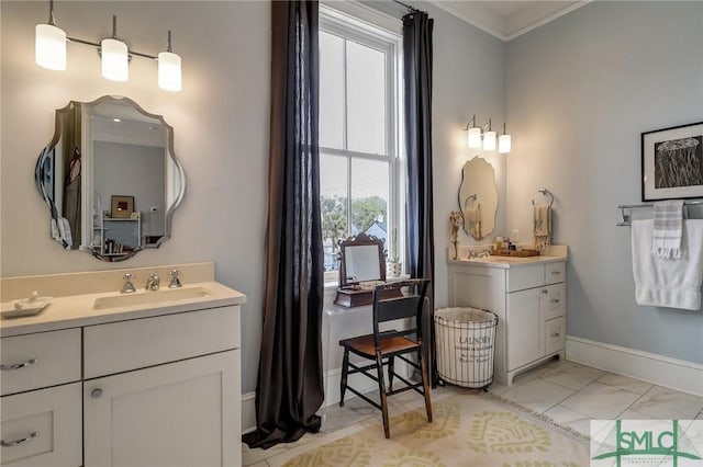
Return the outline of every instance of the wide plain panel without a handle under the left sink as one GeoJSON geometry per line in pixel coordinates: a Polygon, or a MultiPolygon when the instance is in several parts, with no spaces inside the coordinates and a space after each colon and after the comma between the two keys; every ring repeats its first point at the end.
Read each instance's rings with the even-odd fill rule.
{"type": "Polygon", "coordinates": [[[83,379],[238,348],[238,305],[88,326],[83,379]]]}

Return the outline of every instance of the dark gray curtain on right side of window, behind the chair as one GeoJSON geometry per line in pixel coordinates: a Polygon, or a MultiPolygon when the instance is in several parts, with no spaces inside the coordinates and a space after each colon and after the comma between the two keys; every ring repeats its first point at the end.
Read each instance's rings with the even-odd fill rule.
{"type": "MultiPolygon", "coordinates": [[[[405,103],[405,150],[408,159],[406,204],[408,263],[411,277],[433,282],[427,288],[429,309],[434,310],[434,219],[432,196],[432,20],[424,11],[403,16],[403,79],[405,103]]],[[[431,312],[432,315],[432,312],[431,312]]],[[[435,376],[434,326],[431,332],[429,369],[435,376]]]]}

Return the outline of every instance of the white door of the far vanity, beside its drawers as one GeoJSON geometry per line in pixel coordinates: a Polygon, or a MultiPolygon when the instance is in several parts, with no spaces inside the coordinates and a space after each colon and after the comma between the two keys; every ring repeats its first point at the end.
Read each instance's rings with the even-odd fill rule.
{"type": "Polygon", "coordinates": [[[542,288],[507,294],[507,369],[515,369],[545,354],[544,321],[539,314],[542,288]]]}

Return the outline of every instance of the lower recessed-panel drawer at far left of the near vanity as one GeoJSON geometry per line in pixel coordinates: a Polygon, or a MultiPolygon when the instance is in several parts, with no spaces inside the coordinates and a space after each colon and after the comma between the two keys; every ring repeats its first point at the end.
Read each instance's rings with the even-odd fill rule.
{"type": "Polygon", "coordinates": [[[3,444],[12,444],[0,446],[2,465],[82,465],[81,387],[72,383],[0,399],[0,438],[3,444]]]}

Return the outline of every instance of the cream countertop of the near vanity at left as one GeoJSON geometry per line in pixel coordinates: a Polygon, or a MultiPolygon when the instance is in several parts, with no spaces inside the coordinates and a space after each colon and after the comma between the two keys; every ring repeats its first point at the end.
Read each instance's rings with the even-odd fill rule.
{"type": "MultiPolygon", "coordinates": [[[[121,294],[119,292],[101,292],[54,297],[51,299],[49,305],[36,316],[0,319],[0,337],[5,338],[30,332],[54,331],[129,319],[148,318],[198,309],[239,305],[246,301],[244,294],[214,281],[183,285],[183,287],[178,291],[188,288],[200,288],[205,292],[205,296],[167,299],[157,303],[152,300],[150,303],[103,309],[94,308],[97,299],[101,297],[116,297],[121,294]]],[[[163,287],[161,291],[137,291],[129,295],[168,294],[168,288],[163,287]]],[[[2,310],[13,307],[14,301],[15,300],[3,303],[2,310]]]]}

